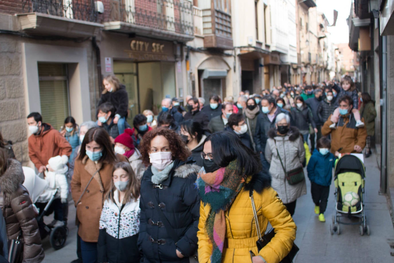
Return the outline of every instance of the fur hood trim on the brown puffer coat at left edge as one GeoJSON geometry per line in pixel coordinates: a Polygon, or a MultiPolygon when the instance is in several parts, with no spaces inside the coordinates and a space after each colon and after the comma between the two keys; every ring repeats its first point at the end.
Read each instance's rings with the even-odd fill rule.
{"type": "Polygon", "coordinates": [[[0,176],[0,190],[7,194],[15,192],[24,182],[24,174],[20,162],[8,159],[8,168],[0,176]]]}

